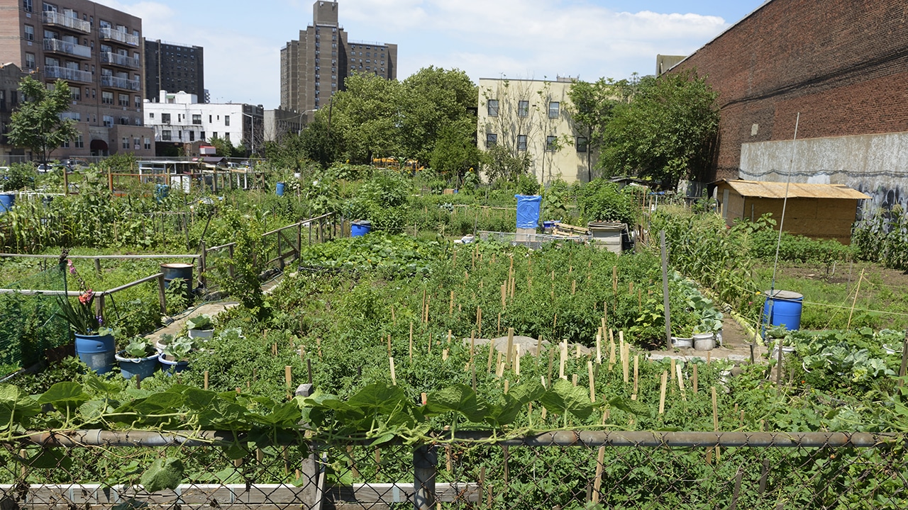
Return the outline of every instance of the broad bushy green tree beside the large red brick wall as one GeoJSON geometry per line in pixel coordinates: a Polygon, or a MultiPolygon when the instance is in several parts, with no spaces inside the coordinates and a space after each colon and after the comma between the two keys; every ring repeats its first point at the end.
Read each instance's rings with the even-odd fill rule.
{"type": "Polygon", "coordinates": [[[602,132],[607,175],[637,173],[674,189],[702,178],[716,141],[717,93],[693,72],[642,78],[618,103],[602,132]]]}

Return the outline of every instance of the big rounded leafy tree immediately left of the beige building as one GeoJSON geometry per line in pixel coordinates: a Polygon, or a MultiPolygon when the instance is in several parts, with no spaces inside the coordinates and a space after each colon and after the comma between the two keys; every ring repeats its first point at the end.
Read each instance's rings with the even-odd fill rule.
{"type": "MultiPolygon", "coordinates": [[[[424,67],[403,81],[400,102],[400,144],[408,157],[425,164],[439,143],[472,138],[478,90],[469,76],[458,69],[424,67]],[[452,130],[458,130],[453,132],[452,130]]],[[[475,145],[475,144],[474,144],[475,145]]],[[[475,161],[475,160],[474,160],[475,161]]],[[[434,163],[432,164],[434,167],[434,163]]]]}

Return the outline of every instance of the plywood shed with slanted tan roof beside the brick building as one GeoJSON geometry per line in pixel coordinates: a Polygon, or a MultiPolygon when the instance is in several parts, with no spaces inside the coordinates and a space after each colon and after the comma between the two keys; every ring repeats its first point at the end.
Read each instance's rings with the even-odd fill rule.
{"type": "MultiPolygon", "coordinates": [[[[713,186],[726,225],[733,225],[735,219],[754,221],[771,212],[778,228],[785,200],[785,182],[722,180],[714,182],[713,186]]],[[[792,182],[788,185],[785,231],[851,244],[858,202],[869,198],[861,191],[841,184],[792,182]]]]}

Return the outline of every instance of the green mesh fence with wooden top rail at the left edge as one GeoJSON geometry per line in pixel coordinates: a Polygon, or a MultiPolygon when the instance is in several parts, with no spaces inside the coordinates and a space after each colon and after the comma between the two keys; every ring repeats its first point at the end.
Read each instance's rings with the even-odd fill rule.
{"type": "Polygon", "coordinates": [[[65,290],[65,271],[55,264],[24,280],[7,283],[0,293],[0,372],[29,367],[44,351],[70,343],[69,325],[57,315],[56,296],[27,290],[65,290]],[[25,293],[24,293],[25,292],[25,293]]]}

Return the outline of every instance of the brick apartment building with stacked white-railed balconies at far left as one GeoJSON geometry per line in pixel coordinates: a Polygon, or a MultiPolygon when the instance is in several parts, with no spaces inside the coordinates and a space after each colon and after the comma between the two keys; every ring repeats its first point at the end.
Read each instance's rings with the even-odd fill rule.
{"type": "Polygon", "coordinates": [[[154,154],[143,126],[140,18],[88,0],[0,0],[0,12],[0,62],[72,90],[64,115],[79,136],[52,157],[154,154]]]}

